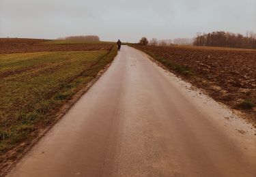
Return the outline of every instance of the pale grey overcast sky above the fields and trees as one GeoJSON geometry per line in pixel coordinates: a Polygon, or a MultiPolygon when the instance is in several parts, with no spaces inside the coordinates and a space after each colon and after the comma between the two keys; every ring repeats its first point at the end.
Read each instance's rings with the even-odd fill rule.
{"type": "Polygon", "coordinates": [[[137,42],[256,32],[256,0],[0,0],[0,37],[98,35],[137,42]]]}

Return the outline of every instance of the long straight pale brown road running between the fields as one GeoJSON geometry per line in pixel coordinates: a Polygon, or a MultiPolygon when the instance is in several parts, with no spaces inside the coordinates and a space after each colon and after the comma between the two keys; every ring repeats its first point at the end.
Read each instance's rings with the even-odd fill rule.
{"type": "Polygon", "coordinates": [[[123,46],[8,176],[256,176],[243,121],[123,46]]]}

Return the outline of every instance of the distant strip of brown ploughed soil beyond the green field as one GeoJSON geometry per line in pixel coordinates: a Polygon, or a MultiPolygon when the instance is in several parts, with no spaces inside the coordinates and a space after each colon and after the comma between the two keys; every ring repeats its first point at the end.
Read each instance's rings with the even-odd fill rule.
{"type": "MultiPolygon", "coordinates": [[[[63,41],[65,42],[65,41],[63,41]]],[[[0,54],[25,53],[25,52],[54,52],[54,51],[92,51],[110,50],[111,44],[61,42],[48,39],[19,39],[0,38],[0,54]]]]}

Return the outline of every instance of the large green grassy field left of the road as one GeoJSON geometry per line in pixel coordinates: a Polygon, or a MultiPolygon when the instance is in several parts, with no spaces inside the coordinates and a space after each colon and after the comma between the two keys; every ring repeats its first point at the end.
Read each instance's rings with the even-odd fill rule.
{"type": "Polygon", "coordinates": [[[58,109],[116,54],[115,47],[0,54],[0,155],[51,125],[58,109]]]}

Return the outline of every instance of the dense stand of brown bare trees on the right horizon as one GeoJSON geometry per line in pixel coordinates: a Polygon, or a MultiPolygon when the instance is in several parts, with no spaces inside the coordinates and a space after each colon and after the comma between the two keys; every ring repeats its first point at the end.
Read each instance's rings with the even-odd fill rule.
{"type": "Polygon", "coordinates": [[[256,33],[240,33],[214,31],[212,33],[197,34],[193,44],[195,46],[218,46],[231,48],[256,48],[256,33]]]}

